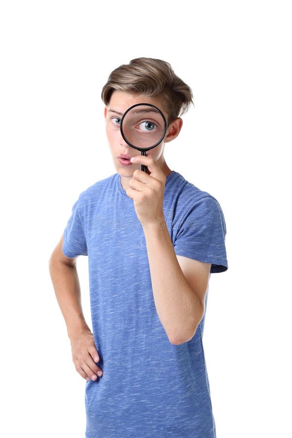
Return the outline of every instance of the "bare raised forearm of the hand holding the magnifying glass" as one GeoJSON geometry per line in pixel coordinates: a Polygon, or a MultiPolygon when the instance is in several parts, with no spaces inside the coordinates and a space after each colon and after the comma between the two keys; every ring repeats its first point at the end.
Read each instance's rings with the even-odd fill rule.
{"type": "Polygon", "coordinates": [[[170,342],[181,343],[193,336],[201,320],[201,302],[189,286],[177,260],[164,216],[145,225],[155,307],[170,342]]]}

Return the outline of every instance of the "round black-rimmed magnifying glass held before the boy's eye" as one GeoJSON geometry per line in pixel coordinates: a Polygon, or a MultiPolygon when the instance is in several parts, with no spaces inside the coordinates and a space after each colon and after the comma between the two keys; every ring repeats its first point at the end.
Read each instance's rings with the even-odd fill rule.
{"type": "MultiPolygon", "coordinates": [[[[125,142],[146,152],[158,146],[166,133],[166,120],[163,112],[151,104],[135,104],[123,114],[120,123],[121,134],[125,142]]],[[[141,170],[146,172],[147,166],[141,164],[141,170]]]]}

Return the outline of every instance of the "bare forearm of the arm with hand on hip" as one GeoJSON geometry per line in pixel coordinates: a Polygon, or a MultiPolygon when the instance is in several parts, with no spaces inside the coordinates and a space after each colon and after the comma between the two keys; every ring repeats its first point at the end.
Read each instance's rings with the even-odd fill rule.
{"type": "Polygon", "coordinates": [[[71,267],[54,259],[50,259],[49,270],[67,333],[71,338],[75,333],[89,329],[82,311],[77,270],[75,266],[71,267]]]}

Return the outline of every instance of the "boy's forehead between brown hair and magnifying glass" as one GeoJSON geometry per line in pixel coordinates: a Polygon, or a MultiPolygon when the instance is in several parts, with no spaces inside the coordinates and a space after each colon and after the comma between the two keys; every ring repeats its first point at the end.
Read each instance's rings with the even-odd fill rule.
{"type": "Polygon", "coordinates": [[[141,94],[137,93],[128,93],[126,91],[113,91],[110,102],[109,102],[109,110],[116,111],[117,113],[124,114],[126,110],[132,105],[138,103],[149,103],[155,105],[165,114],[165,109],[163,105],[163,100],[160,97],[145,97],[141,94]]]}

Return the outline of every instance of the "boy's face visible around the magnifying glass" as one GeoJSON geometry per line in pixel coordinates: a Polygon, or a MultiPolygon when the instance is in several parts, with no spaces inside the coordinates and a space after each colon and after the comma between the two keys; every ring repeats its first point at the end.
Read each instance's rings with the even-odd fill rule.
{"type": "MultiPolygon", "coordinates": [[[[144,97],[139,94],[132,94],[125,91],[113,91],[110,97],[110,103],[105,108],[106,132],[109,141],[110,152],[117,173],[126,178],[131,177],[134,170],[141,169],[141,164],[134,164],[130,161],[128,161],[128,165],[121,164],[121,162],[119,161],[119,156],[121,154],[129,155],[130,157],[135,157],[136,155],[141,156],[141,152],[140,150],[129,146],[125,142],[121,134],[120,124],[124,112],[126,112],[129,107],[137,103],[149,103],[155,105],[164,113],[164,116],[167,119],[167,114],[164,110],[164,106],[160,98],[144,97]]],[[[167,136],[167,132],[168,129],[166,131],[165,137],[167,136]]],[[[146,156],[153,158],[155,161],[158,162],[161,167],[164,164],[163,151],[165,137],[158,146],[146,152],[146,156]]]]}

